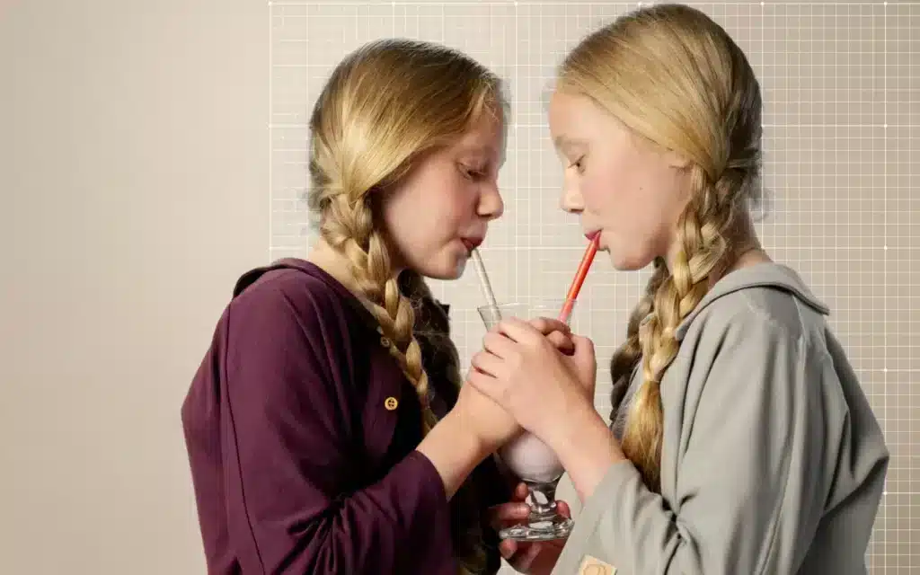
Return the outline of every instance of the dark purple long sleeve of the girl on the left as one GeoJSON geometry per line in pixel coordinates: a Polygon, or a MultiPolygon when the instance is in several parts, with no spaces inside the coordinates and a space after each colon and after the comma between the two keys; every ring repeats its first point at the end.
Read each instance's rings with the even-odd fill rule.
{"type": "Polygon", "coordinates": [[[226,521],[242,571],[453,573],[448,503],[427,458],[412,452],[356,484],[361,408],[344,389],[353,366],[330,302],[259,290],[258,305],[244,294],[231,307],[224,360],[226,521]]]}

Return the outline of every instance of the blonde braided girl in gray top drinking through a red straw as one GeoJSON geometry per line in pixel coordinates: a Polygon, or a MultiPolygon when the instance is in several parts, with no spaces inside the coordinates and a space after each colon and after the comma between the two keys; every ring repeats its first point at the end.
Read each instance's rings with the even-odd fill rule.
{"type": "Polygon", "coordinates": [[[503,542],[515,568],[866,572],[889,452],[827,307],[755,235],[761,109],[742,50],[686,6],[620,17],[562,63],[562,205],[617,270],[654,274],[609,428],[589,339],[566,354],[509,319],[473,358],[468,382],[556,450],[582,504],[561,553],[503,542]]]}

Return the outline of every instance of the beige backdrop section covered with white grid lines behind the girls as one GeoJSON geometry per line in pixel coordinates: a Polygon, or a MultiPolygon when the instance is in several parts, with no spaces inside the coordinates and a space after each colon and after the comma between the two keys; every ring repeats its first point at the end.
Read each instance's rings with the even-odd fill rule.
{"type": "MultiPolygon", "coordinates": [[[[483,258],[502,299],[559,297],[584,240],[558,211],[561,169],[544,96],[554,66],[585,33],[635,2],[437,0],[268,3],[270,27],[269,259],[309,245],[306,121],[332,67],[368,40],[434,40],[476,57],[510,83],[512,130],[500,175],[504,217],[483,258]]],[[[649,4],[649,3],[645,3],[649,4]]],[[[758,230],[832,307],[891,445],[888,486],[868,549],[870,572],[920,571],[920,2],[688,2],[747,53],[765,98],[765,188],[758,230]],[[915,36],[915,32],[914,32],[915,36]]],[[[605,365],[624,336],[648,272],[592,269],[573,318],[595,340],[597,408],[610,405],[605,365]]],[[[432,282],[452,304],[464,362],[484,328],[475,274],[432,282]]],[[[508,570],[507,572],[512,572],[508,570]]]]}

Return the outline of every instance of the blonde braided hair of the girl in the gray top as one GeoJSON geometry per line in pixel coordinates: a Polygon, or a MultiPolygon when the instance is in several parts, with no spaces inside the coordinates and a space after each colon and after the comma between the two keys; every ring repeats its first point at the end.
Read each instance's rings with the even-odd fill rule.
{"type": "Polygon", "coordinates": [[[558,86],[592,98],[639,140],[689,160],[692,194],[677,222],[671,270],[656,259],[611,361],[615,412],[641,360],[643,385],[622,446],[659,490],[661,377],[678,351],[675,329],[736,256],[731,228],[744,201],[759,200],[760,86],[719,24],[673,4],[638,8],[582,40],[562,63],[558,86]]]}

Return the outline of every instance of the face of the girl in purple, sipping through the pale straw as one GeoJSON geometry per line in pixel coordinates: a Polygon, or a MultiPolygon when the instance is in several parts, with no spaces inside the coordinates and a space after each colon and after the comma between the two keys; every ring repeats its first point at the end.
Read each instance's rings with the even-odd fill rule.
{"type": "Polygon", "coordinates": [[[483,114],[462,138],[425,156],[383,200],[393,263],[438,280],[459,278],[470,251],[504,209],[500,118],[483,114]]]}

